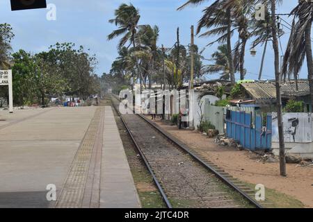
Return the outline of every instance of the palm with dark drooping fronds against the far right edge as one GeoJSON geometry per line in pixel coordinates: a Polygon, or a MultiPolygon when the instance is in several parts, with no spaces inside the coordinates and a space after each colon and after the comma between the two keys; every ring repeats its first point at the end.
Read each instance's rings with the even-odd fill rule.
{"type": "Polygon", "coordinates": [[[288,76],[294,74],[294,78],[297,80],[298,74],[306,57],[308,72],[307,78],[310,85],[311,100],[313,101],[313,62],[311,43],[311,27],[313,19],[312,2],[299,0],[298,6],[290,12],[290,15],[295,16],[286,53],[284,54],[282,74],[284,74],[284,76],[287,74],[288,76]],[[298,19],[297,22],[296,18],[298,19]]]}

